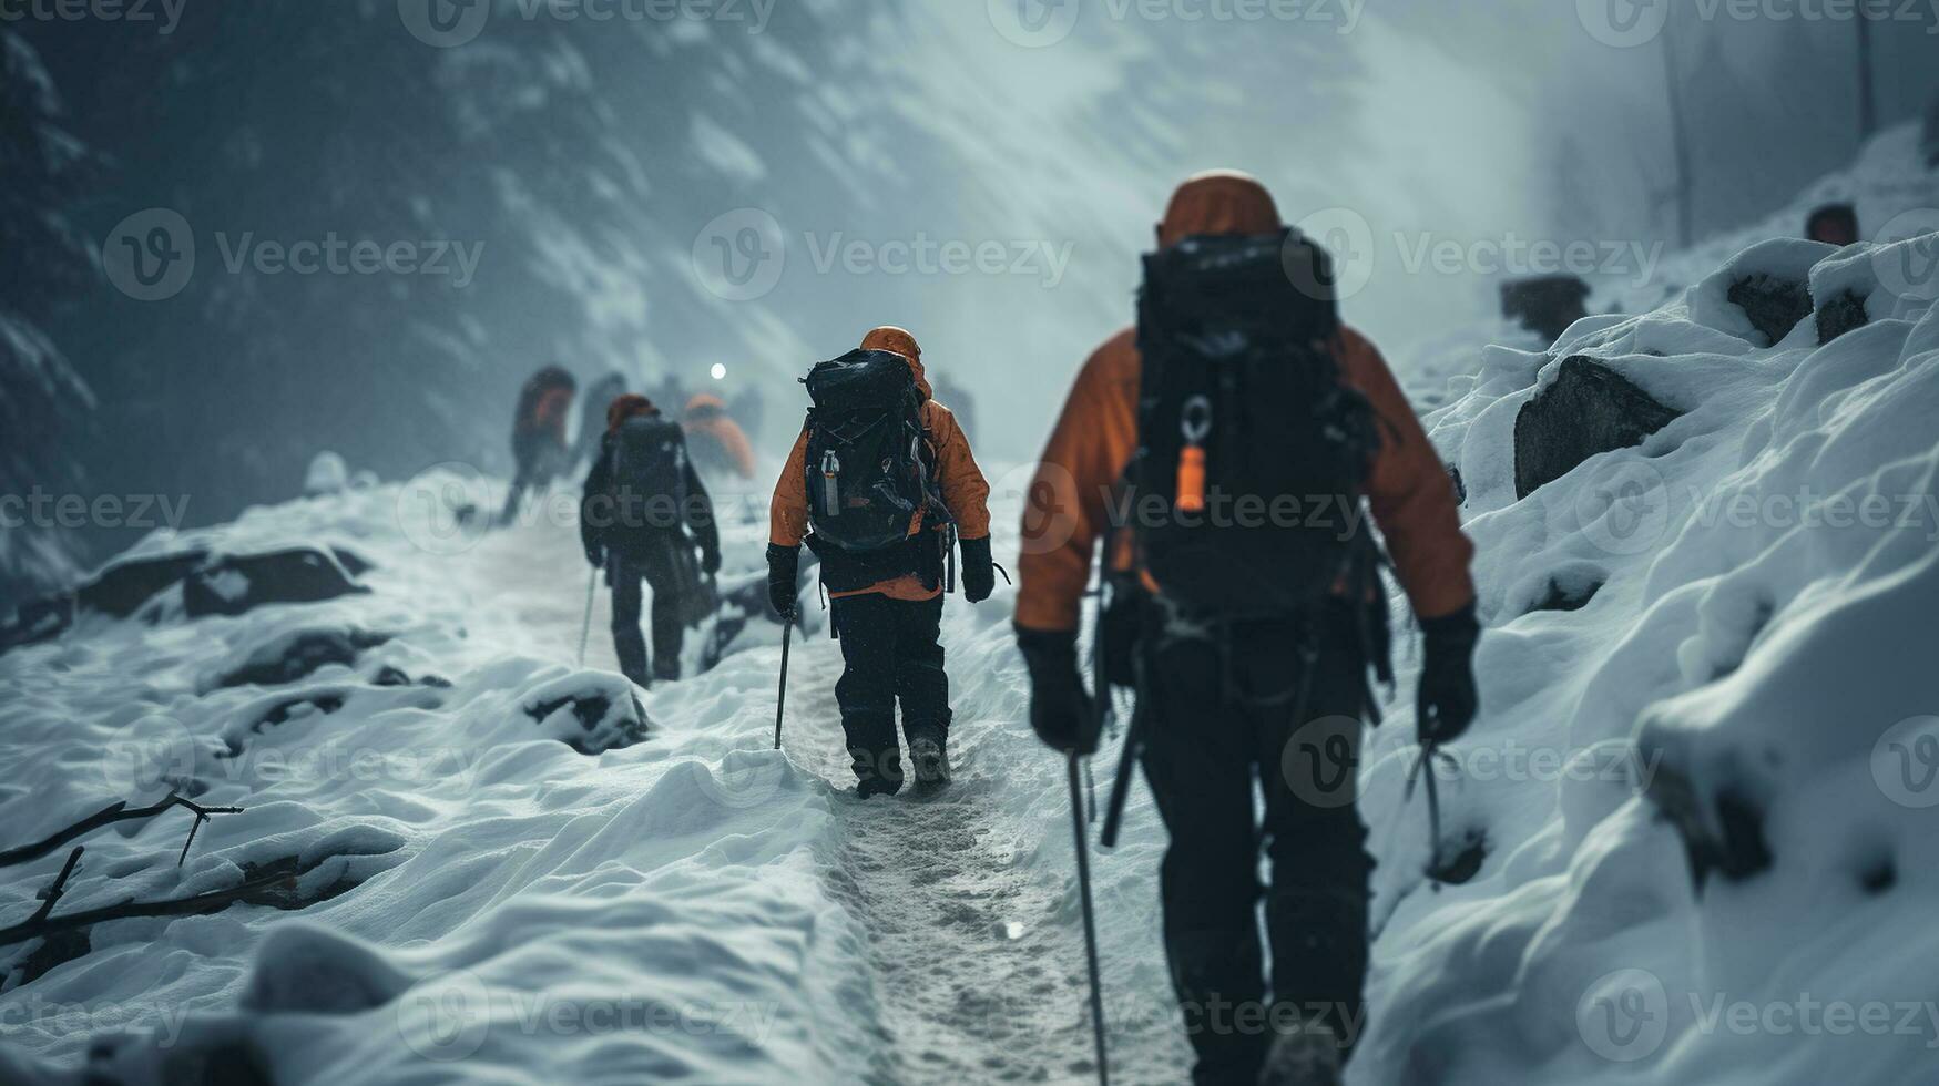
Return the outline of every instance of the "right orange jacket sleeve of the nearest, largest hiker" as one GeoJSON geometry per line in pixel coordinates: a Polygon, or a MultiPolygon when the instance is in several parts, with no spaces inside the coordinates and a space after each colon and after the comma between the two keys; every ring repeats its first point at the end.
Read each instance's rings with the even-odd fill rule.
{"type": "Polygon", "coordinates": [[[1342,341],[1346,382],[1381,415],[1381,454],[1367,481],[1367,504],[1415,615],[1443,619],[1474,603],[1468,572],[1474,543],[1460,526],[1454,483],[1381,351],[1351,328],[1342,341]]]}

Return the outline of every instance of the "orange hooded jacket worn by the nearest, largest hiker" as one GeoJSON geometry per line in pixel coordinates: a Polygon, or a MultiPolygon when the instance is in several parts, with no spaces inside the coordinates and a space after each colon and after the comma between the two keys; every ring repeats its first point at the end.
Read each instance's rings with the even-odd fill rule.
{"type": "MultiPolygon", "coordinates": [[[[1282,229],[1266,188],[1241,173],[1187,180],[1158,229],[1160,246],[1194,235],[1262,235],[1282,229]]],[[[1367,481],[1373,518],[1386,537],[1400,584],[1425,619],[1474,601],[1454,487],[1381,353],[1351,328],[1338,339],[1346,382],[1383,419],[1381,452],[1367,481]]],[[[1107,500],[1138,448],[1138,334],[1119,332],[1084,363],[1065,413],[1051,432],[1024,506],[1016,624],[1028,630],[1078,628],[1092,549],[1105,533],[1107,500]]],[[[1113,555],[1128,568],[1128,553],[1113,555]]]]}

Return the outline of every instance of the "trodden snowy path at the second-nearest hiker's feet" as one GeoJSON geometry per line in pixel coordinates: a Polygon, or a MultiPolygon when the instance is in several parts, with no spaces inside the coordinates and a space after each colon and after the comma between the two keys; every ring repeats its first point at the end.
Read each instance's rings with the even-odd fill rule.
{"type": "MultiPolygon", "coordinates": [[[[787,747],[797,764],[847,787],[834,685],[838,646],[803,646],[787,747]]],[[[983,729],[985,733],[995,729],[983,729]]],[[[993,752],[954,745],[954,783],[937,795],[840,803],[830,896],[867,933],[882,1032],[880,1082],[1061,1082],[1094,1072],[1082,944],[1051,886],[1032,878],[1020,826],[993,803],[993,752]]]]}

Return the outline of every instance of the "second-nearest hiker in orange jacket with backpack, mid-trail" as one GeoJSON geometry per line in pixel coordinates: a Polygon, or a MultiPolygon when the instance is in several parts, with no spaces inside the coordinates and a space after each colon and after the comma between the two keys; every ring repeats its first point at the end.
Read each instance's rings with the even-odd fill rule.
{"type": "Polygon", "coordinates": [[[995,591],[989,483],[956,417],[931,396],[907,332],[876,328],[807,384],[814,407],[770,506],[770,597],[778,613],[795,613],[807,541],[834,599],[845,663],[836,702],[857,791],[902,789],[898,700],[917,787],[940,787],[950,776],[944,568],[960,535],[964,595],[981,603],[995,591]]]}

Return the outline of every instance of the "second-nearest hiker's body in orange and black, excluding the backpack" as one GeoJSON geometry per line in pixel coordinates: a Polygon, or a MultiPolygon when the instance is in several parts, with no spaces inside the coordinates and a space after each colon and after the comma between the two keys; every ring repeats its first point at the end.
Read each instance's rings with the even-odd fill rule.
{"type": "MultiPolygon", "coordinates": [[[[915,374],[937,489],[962,539],[964,595],[981,603],[995,591],[997,574],[989,551],[989,483],[970,452],[970,440],[950,409],[935,401],[923,376],[923,349],[913,335],[902,328],[876,328],[861,349],[902,355],[915,374]]],[[[781,615],[795,613],[801,545],[814,545],[807,454],[809,431],[803,429],[768,510],[768,591],[781,615]]],[[[902,789],[898,700],[917,785],[948,782],[950,681],[942,671],[940,644],[946,545],[948,531],[940,518],[917,510],[907,543],[886,555],[857,560],[836,547],[816,547],[845,665],[836,702],[863,797],[902,789]]]]}

